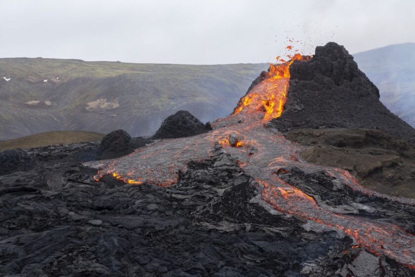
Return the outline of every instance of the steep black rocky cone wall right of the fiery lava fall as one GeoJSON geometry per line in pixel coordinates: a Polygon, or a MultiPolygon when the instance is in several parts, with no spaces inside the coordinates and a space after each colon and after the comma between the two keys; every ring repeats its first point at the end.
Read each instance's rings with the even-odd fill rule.
{"type": "Polygon", "coordinates": [[[415,138],[415,130],[379,101],[378,89],[336,43],[317,46],[311,59],[292,63],[285,109],[272,123],[280,131],[370,128],[415,138]]]}

